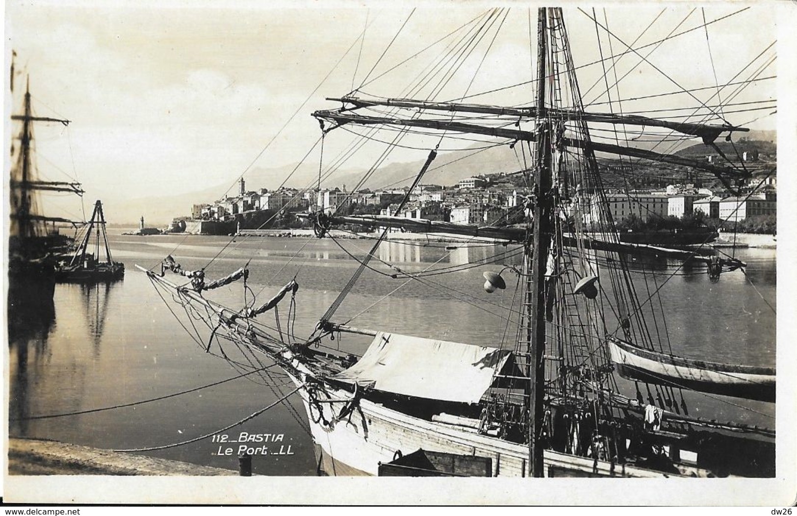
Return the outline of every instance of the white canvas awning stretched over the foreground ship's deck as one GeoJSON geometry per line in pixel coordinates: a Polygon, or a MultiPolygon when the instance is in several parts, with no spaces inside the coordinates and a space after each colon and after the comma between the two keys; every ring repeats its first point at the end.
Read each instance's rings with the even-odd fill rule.
{"type": "Polygon", "coordinates": [[[477,403],[511,352],[379,332],[359,361],[332,376],[384,392],[477,403]]]}

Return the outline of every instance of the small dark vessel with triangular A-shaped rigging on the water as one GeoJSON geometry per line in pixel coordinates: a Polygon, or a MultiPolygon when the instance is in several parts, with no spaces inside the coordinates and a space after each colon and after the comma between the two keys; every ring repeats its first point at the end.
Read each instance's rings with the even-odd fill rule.
{"type": "Polygon", "coordinates": [[[56,270],[58,282],[112,282],[124,278],[124,263],[114,262],[111,247],[108,246],[108,234],[105,231],[105,215],[102,203],[94,204],[91,220],[84,226],[83,238],[72,255],[69,263],[62,262],[56,270]],[[92,243],[94,252],[88,252],[92,243]],[[104,251],[104,259],[101,254],[104,251]]]}

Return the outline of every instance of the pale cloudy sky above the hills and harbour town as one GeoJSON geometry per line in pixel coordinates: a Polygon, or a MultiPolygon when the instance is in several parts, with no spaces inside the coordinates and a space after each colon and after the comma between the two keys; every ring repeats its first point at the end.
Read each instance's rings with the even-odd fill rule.
{"type": "MultiPolygon", "coordinates": [[[[410,57],[492,7],[479,2],[419,2],[417,9],[406,3],[387,5],[394,4],[9,0],[6,66],[14,49],[18,73],[15,95],[6,98],[6,112],[18,109],[18,93],[27,73],[36,114],[72,120],[69,128],[37,124],[43,179],[79,180],[87,192],[87,210],[93,199],[103,199],[107,206],[142,199],[145,211],[147,197],[233,184],[250,168],[299,162],[320,136],[310,113],[340,105],[324,97],[344,95],[359,85],[360,94],[405,94],[407,85],[417,84],[418,69],[453,38],[410,57]],[[408,58],[406,64],[382,76],[408,58]]],[[[480,51],[463,62],[434,98],[456,99],[532,79],[529,17],[536,23],[536,12],[529,13],[529,6],[520,2],[502,5],[511,9],[503,21],[495,18],[493,28],[500,25],[501,31],[494,38],[489,33],[480,51]]],[[[618,54],[624,50],[621,41],[630,45],[640,33],[634,47],[697,26],[704,15],[711,21],[747,6],[708,2],[701,10],[683,2],[608,4],[595,14],[603,24],[608,22],[618,38],[611,41],[611,49],[605,32],[601,45],[597,44],[595,25],[589,19],[591,7],[567,6],[565,19],[573,58],[579,65],[597,61],[602,53],[618,54]]],[[[775,41],[778,22],[788,19],[773,6],[753,6],[710,25],[708,34],[695,30],[666,41],[647,57],[650,64],[638,65],[638,55],[647,56],[654,46],[622,57],[617,69],[627,76],[618,95],[627,99],[732,80],[775,41]],[[701,65],[685,65],[692,58],[701,65]]],[[[774,55],[771,48],[756,62],[774,55]]],[[[777,61],[761,77],[775,75],[776,65],[777,61]]],[[[598,95],[599,86],[590,89],[602,76],[599,65],[579,70],[587,102],[607,100],[598,95]]],[[[430,88],[418,94],[423,97],[430,88]]],[[[701,100],[711,93],[701,93],[701,100]]],[[[524,104],[532,95],[527,85],[467,101],[524,104]]],[[[775,97],[775,81],[760,81],[732,101],[775,97]]],[[[697,101],[684,95],[668,100],[676,106],[693,106],[697,101]]],[[[628,103],[625,109],[651,109],[661,99],[658,102],[628,103]]],[[[708,103],[717,104],[717,100],[708,103]]],[[[595,110],[607,107],[596,104],[595,110]]],[[[765,116],[768,113],[745,112],[728,120],[774,129],[776,117],[765,116]]],[[[325,138],[325,159],[350,144],[351,134],[341,133],[325,138]]],[[[368,167],[382,148],[369,144],[362,156],[344,167],[368,167]]],[[[316,148],[308,160],[318,163],[319,152],[316,148]]],[[[391,154],[390,160],[422,160],[426,152],[402,149],[391,154]]],[[[249,184],[252,188],[274,186],[249,184]]],[[[65,196],[47,199],[45,205],[49,215],[80,213],[79,203],[65,196]]]]}

